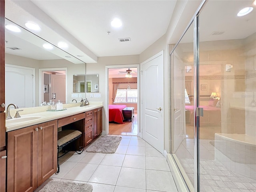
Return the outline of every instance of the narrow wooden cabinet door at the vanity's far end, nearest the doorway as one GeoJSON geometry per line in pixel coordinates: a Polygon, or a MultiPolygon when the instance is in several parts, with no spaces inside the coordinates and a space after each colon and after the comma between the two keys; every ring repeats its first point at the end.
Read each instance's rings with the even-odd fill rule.
{"type": "Polygon", "coordinates": [[[102,107],[93,110],[93,138],[102,133],[102,107]]]}

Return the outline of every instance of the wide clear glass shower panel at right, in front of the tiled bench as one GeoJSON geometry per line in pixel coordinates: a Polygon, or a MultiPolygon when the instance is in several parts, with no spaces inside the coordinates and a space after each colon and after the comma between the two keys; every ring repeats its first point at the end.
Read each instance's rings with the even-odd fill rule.
{"type": "Polygon", "coordinates": [[[256,190],[256,10],[236,16],[247,6],[208,1],[199,15],[200,191],[256,190]]]}

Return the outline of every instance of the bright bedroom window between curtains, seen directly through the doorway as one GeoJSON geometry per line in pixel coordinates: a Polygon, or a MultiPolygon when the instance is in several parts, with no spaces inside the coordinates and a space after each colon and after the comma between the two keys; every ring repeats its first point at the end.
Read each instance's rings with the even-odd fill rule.
{"type": "Polygon", "coordinates": [[[137,89],[118,89],[116,92],[115,103],[137,103],[137,89]]]}

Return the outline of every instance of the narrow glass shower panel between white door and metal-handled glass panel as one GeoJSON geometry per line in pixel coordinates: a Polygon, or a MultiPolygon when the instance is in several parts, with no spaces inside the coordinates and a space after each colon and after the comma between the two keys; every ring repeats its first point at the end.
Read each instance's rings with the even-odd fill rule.
{"type": "Polygon", "coordinates": [[[188,188],[194,186],[194,44],[193,23],[171,55],[172,155],[188,188]]]}

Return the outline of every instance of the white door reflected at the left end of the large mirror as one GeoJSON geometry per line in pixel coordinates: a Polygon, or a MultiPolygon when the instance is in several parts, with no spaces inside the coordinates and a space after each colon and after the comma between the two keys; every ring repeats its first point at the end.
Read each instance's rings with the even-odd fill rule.
{"type": "Polygon", "coordinates": [[[5,65],[5,104],[19,108],[35,106],[35,68],[5,65]]]}

